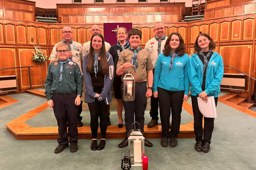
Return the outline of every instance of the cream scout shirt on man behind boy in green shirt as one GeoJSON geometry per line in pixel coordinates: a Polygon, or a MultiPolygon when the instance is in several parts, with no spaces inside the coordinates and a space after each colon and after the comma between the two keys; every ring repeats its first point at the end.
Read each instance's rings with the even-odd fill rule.
{"type": "MultiPolygon", "coordinates": [[[[51,60],[51,58],[58,58],[58,54],[56,51],[57,44],[53,47],[49,60],[51,60]]],[[[78,64],[81,74],[83,75],[82,68],[81,68],[81,60],[83,60],[83,56],[82,56],[83,47],[80,43],[77,43],[75,41],[73,41],[73,43],[70,44],[70,47],[72,52],[72,60],[78,64]]]]}

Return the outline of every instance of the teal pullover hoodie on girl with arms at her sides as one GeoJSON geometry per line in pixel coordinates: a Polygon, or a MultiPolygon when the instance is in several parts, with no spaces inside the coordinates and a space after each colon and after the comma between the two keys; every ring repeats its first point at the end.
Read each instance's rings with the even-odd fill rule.
{"type": "Polygon", "coordinates": [[[169,91],[185,90],[185,95],[189,95],[189,78],[188,66],[189,56],[184,54],[177,56],[173,60],[173,69],[169,71],[171,56],[165,56],[161,53],[156,62],[153,92],[157,91],[157,87],[169,91]]]}

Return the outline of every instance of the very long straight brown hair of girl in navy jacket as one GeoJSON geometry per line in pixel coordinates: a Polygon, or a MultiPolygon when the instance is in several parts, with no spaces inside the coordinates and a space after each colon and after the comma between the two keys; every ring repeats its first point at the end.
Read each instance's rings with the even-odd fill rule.
{"type": "Polygon", "coordinates": [[[107,60],[107,56],[106,56],[106,47],[105,47],[105,41],[103,36],[100,33],[95,33],[93,34],[92,38],[91,38],[91,43],[90,43],[90,50],[89,50],[89,54],[87,55],[87,67],[86,67],[86,71],[89,73],[93,73],[92,72],[92,67],[94,64],[94,49],[92,46],[92,41],[93,41],[93,37],[95,36],[99,36],[102,39],[102,46],[101,46],[101,53],[100,53],[100,63],[102,66],[102,71],[103,74],[107,74],[109,72],[109,65],[108,65],[108,60],[107,60]]]}

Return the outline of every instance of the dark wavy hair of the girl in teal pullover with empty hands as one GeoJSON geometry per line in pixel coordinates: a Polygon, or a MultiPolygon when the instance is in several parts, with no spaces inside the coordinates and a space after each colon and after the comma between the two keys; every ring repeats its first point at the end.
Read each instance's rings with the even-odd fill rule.
{"type": "Polygon", "coordinates": [[[182,36],[178,32],[171,33],[168,38],[166,39],[166,43],[164,45],[163,54],[165,56],[169,56],[171,52],[170,41],[173,35],[177,35],[179,37],[179,47],[176,49],[175,53],[179,53],[179,56],[185,54],[185,44],[182,36]]]}

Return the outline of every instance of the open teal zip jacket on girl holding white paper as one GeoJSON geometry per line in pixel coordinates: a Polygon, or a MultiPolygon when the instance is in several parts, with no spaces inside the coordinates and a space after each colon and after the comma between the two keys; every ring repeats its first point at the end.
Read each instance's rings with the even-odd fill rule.
{"type": "MultiPolygon", "coordinates": [[[[191,82],[190,93],[191,95],[196,96],[203,91],[203,63],[197,54],[190,57],[188,72],[189,80],[191,82]]],[[[207,96],[219,96],[223,73],[224,68],[222,57],[218,53],[213,52],[206,72],[205,92],[207,96]]]]}

